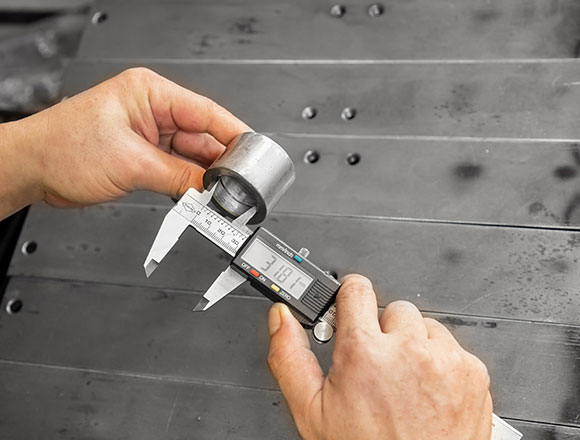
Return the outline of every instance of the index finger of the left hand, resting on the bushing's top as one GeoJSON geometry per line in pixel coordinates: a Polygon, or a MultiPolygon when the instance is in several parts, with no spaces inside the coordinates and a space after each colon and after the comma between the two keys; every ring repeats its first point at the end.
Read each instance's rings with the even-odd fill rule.
{"type": "Polygon", "coordinates": [[[253,131],[216,102],[170,80],[165,80],[164,87],[154,88],[151,97],[156,101],[152,102],[154,114],[155,107],[162,109],[165,106],[178,129],[190,133],[209,133],[223,145],[229,144],[241,133],[253,131]]]}

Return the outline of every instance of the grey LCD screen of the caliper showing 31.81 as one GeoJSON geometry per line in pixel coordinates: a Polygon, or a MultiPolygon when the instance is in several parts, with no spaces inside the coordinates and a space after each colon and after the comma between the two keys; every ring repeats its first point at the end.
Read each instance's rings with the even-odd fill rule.
{"type": "Polygon", "coordinates": [[[311,277],[258,239],[246,249],[242,259],[296,299],[312,282],[311,277]]]}

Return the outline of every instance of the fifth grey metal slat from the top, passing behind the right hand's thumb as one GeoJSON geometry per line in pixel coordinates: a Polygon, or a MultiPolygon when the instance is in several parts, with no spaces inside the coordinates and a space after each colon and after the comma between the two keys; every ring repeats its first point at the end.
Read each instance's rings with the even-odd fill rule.
{"type": "MultiPolygon", "coordinates": [[[[205,313],[191,312],[200,297],[107,284],[12,280],[1,310],[12,299],[20,299],[23,308],[0,315],[0,359],[275,390],[266,366],[270,301],[229,297],[205,313]]],[[[498,414],[580,426],[575,417],[580,327],[429,316],[486,362],[498,414]]],[[[328,370],[332,344],[313,349],[328,370]]],[[[244,401],[241,396],[238,402],[244,401]]]]}

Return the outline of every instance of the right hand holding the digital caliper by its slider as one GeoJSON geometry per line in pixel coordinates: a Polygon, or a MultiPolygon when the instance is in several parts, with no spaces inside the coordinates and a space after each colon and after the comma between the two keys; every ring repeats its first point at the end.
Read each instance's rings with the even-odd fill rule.
{"type": "Polygon", "coordinates": [[[377,319],[368,279],[343,281],[327,377],[286,306],[272,307],[269,328],[268,364],[302,438],[490,440],[485,365],[408,302],[377,319]]]}

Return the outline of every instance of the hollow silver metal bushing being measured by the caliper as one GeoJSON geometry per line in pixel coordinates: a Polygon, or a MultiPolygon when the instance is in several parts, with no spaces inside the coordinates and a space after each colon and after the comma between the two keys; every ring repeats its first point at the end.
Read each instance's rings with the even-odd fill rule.
{"type": "Polygon", "coordinates": [[[261,223],[294,182],[292,159],[259,133],[237,136],[203,175],[203,186],[216,185],[214,201],[233,217],[255,206],[249,224],[261,223]]]}

